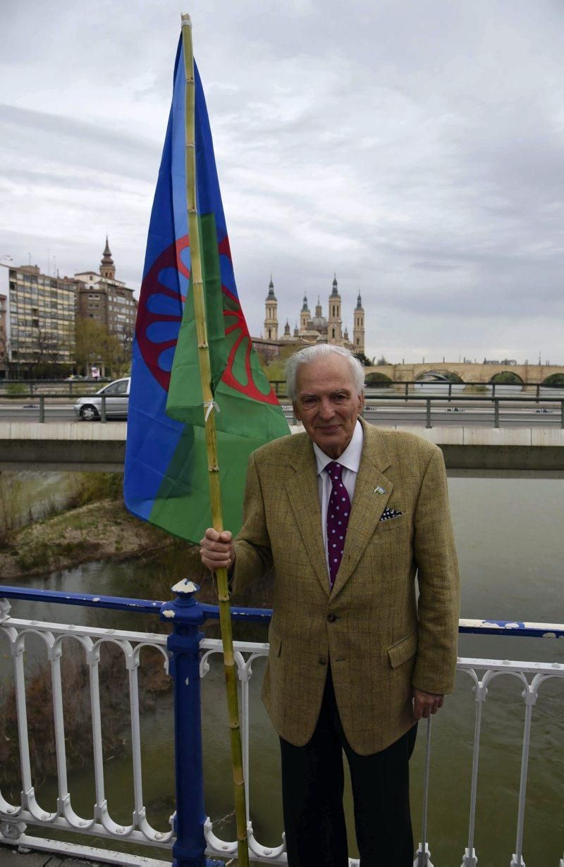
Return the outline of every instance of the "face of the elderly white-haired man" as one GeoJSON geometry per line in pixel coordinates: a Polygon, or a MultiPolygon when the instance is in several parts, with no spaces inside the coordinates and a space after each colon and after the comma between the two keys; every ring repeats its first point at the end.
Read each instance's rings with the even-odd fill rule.
{"type": "Polygon", "coordinates": [[[301,364],[296,375],[294,415],[313,442],[336,460],[351,442],[364,395],[357,394],[349,362],[343,355],[327,355],[301,364]]]}

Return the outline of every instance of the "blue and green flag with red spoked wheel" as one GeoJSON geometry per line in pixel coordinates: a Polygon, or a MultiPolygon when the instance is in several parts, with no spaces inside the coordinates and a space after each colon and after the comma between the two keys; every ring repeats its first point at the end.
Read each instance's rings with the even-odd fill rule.
{"type": "MultiPolygon", "coordinates": [[[[249,454],[290,433],[239,303],[200,75],[194,64],[196,183],[223,522],[239,531],[249,454]]],[[[184,58],[154,193],[135,323],[124,496],[139,518],[197,543],[213,524],[190,280],[184,58]]]]}

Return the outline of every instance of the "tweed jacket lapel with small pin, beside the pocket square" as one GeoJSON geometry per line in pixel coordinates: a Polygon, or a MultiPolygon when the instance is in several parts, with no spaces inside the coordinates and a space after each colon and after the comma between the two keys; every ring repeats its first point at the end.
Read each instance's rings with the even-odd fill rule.
{"type": "Polygon", "coordinates": [[[355,570],[366,545],[377,529],[393,490],[393,484],[384,475],[384,470],[390,466],[390,457],[380,433],[377,427],[367,425],[364,419],[360,421],[364,430],[363,451],[352,499],[351,519],[344,541],[343,559],[333,585],[333,596],[343,589],[355,570]]]}

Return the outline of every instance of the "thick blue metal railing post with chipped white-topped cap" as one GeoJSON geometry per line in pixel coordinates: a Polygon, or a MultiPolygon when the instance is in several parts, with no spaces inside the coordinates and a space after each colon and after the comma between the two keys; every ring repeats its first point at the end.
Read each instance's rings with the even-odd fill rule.
{"type": "Polygon", "coordinates": [[[204,772],[201,746],[200,626],[206,619],[192,581],[172,588],[176,598],[161,607],[161,620],[172,623],[167,640],[169,671],[174,680],[174,775],[176,818],[174,867],[223,867],[206,857],[204,772]]]}

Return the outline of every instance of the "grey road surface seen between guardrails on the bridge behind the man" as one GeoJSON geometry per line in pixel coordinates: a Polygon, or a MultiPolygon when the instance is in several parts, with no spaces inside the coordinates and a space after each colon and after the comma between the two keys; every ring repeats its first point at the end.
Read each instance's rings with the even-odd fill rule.
{"type": "MultiPolygon", "coordinates": [[[[284,405],[286,418],[292,420],[292,409],[284,405]]],[[[426,409],[423,403],[405,405],[399,401],[391,405],[367,407],[364,413],[367,421],[382,425],[420,425],[425,426],[426,409]]],[[[0,421],[38,421],[39,403],[28,402],[22,405],[13,403],[0,404],[0,421]]],[[[45,421],[75,421],[77,424],[93,424],[90,421],[77,421],[72,404],[45,404],[45,421]]],[[[431,408],[431,424],[433,426],[456,425],[457,427],[493,427],[494,407],[492,404],[477,401],[469,407],[453,401],[450,407],[437,406],[431,408]]],[[[544,407],[500,407],[500,425],[502,427],[560,427],[560,405],[547,404],[544,407]]]]}

